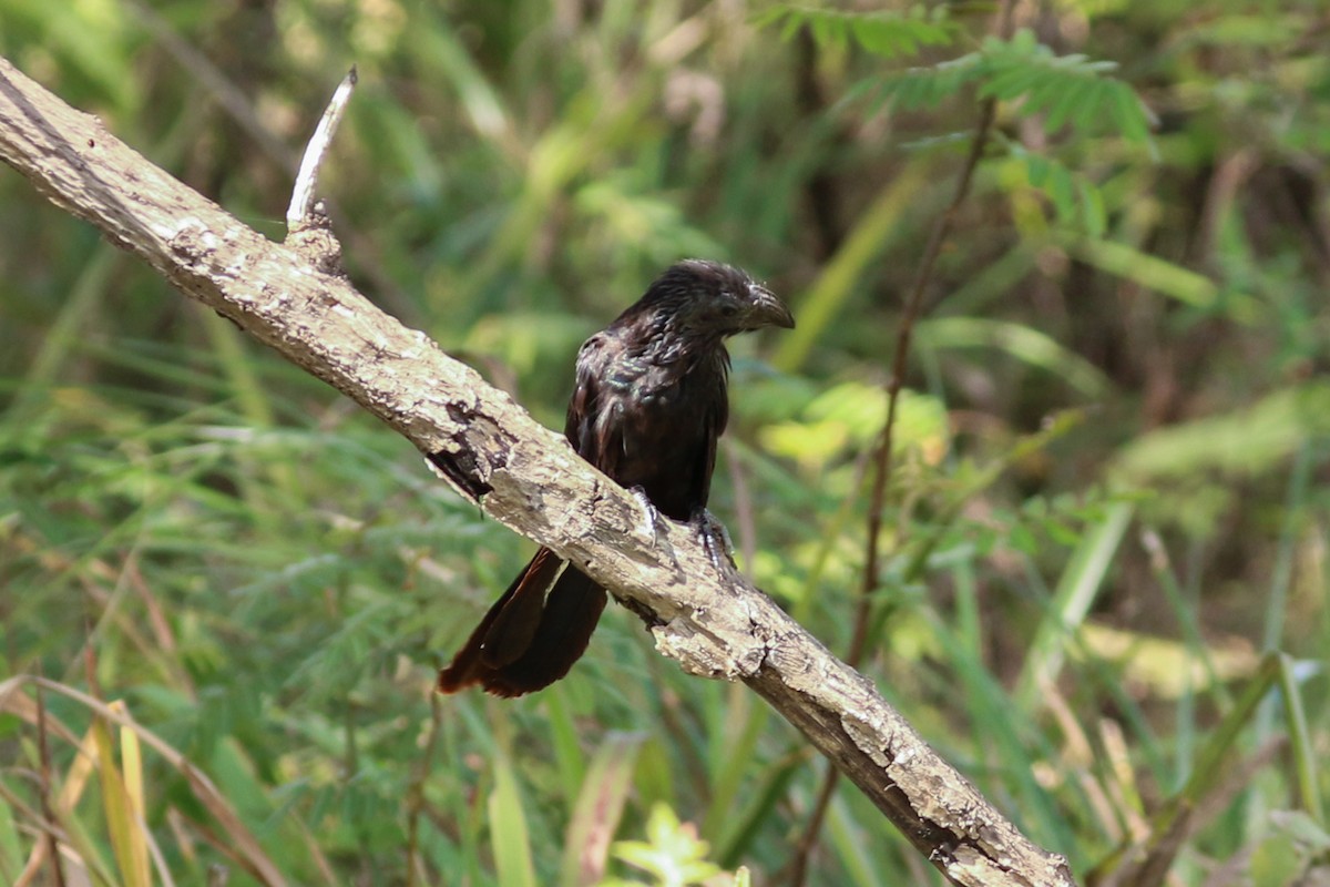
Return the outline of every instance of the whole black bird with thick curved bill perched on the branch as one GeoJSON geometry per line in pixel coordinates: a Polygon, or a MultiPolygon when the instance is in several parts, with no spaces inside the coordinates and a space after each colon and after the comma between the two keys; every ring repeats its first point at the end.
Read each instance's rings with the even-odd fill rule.
{"type": "MultiPolygon", "coordinates": [[[[743,271],[672,266],[577,352],[564,434],[577,453],[674,520],[704,520],[725,431],[726,336],[793,327],[789,309],[743,271]]],[[[541,548],[472,632],[439,690],[479,684],[521,696],[568,674],[605,608],[605,589],[541,548]]]]}

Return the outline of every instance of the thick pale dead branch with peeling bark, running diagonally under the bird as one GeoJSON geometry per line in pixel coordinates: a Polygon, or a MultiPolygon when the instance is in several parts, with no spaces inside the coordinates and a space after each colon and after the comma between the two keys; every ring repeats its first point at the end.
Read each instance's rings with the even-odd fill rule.
{"type": "Polygon", "coordinates": [[[861,674],[766,594],[718,574],[508,395],[157,169],[0,59],[0,157],[173,286],[346,394],[440,465],[458,492],[568,557],[692,674],[742,680],[803,731],[956,884],[1072,884],[861,674]]]}

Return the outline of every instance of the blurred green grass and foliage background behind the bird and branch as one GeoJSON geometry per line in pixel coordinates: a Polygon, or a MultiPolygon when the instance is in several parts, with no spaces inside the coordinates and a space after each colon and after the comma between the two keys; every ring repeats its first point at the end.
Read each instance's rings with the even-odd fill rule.
{"type": "MultiPolygon", "coordinates": [[[[274,238],[356,64],[322,182],[355,282],[549,426],[665,265],[765,279],[799,327],[735,343],[712,508],[838,652],[903,295],[996,98],[914,331],[864,670],[1081,876],[1303,883],[1330,13],[994,13],[0,0],[0,52],[274,238]]],[[[0,882],[57,883],[55,834],[66,883],[787,883],[826,766],[794,730],[618,608],[545,693],[431,698],[531,545],[5,170],[0,411],[0,882]]],[[[839,789],[809,883],[938,882],[839,789]]]]}

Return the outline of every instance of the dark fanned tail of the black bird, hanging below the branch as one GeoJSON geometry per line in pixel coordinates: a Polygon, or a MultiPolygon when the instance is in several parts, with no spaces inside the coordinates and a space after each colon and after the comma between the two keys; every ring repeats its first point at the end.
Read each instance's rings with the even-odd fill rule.
{"type": "Polygon", "coordinates": [[[439,692],[479,684],[511,697],[553,684],[587,650],[605,600],[605,589],[541,548],[439,672],[439,692]]]}

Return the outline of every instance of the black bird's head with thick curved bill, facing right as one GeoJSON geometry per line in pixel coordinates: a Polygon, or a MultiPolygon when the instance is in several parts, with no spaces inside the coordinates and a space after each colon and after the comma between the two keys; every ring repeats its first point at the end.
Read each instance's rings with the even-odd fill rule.
{"type": "Polygon", "coordinates": [[[770,290],[737,267],[705,259],[672,265],[640,305],[668,314],[676,331],[706,338],[794,327],[790,309],[770,290]]]}

